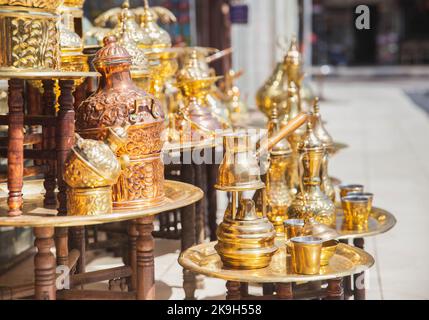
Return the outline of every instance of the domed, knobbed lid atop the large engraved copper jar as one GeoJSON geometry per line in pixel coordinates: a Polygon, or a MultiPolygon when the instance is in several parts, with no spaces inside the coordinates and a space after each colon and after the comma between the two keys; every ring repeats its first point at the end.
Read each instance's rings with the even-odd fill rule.
{"type": "Polygon", "coordinates": [[[97,51],[94,58],[94,65],[131,65],[131,55],[121,45],[117,43],[115,36],[107,36],[103,39],[104,47],[97,51]]]}

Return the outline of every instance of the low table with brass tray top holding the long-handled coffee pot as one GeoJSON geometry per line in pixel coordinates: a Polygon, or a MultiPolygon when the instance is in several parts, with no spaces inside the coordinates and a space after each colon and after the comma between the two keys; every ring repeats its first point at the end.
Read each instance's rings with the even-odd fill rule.
{"type": "MultiPolygon", "coordinates": [[[[365,251],[346,244],[338,245],[329,265],[322,267],[318,275],[299,275],[291,271],[290,255],[286,254],[284,243],[279,243],[279,250],[273,256],[268,267],[255,270],[233,270],[223,266],[220,256],[210,242],[194,246],[179,257],[179,263],[190,271],[209,277],[227,280],[228,300],[261,299],[248,294],[248,283],[275,283],[277,299],[324,298],[342,300],[344,291],[342,278],[360,274],[374,264],[374,259],[365,251]],[[327,281],[327,289],[321,288],[322,281],[327,281]],[[301,290],[299,282],[308,282],[307,290],[301,290]]],[[[272,299],[273,295],[264,293],[262,299],[272,299]]]]}

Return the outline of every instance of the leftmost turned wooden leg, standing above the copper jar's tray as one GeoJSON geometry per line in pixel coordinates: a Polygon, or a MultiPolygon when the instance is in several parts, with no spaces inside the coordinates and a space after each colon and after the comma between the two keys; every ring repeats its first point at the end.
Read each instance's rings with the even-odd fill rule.
{"type": "Polygon", "coordinates": [[[7,149],[7,204],[9,216],[22,214],[24,179],[24,80],[9,80],[9,127],[7,149]]]}

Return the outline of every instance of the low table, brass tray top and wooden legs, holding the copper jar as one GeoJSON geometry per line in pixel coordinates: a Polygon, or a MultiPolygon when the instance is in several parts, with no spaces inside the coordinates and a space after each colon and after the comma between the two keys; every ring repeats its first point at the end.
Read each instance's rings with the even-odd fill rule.
{"type": "MultiPolygon", "coordinates": [[[[34,182],[28,182],[31,184],[34,182]]],[[[40,188],[40,182],[39,182],[40,188]]],[[[111,214],[98,216],[63,216],[55,206],[43,205],[41,194],[28,195],[25,198],[23,213],[20,216],[7,216],[6,199],[1,201],[0,226],[31,227],[34,230],[37,254],[34,258],[34,284],[23,284],[13,288],[0,288],[2,299],[19,299],[34,296],[35,299],[155,299],[154,239],[152,237],[154,216],[176,208],[190,207],[203,197],[203,192],[192,185],[177,182],[165,182],[166,201],[159,206],[142,207],[136,210],[114,210],[111,214]],[[128,259],[121,267],[94,272],[85,272],[85,242],[83,226],[117,221],[129,221],[128,259]],[[82,232],[72,236],[73,249],[69,251],[67,227],[82,232]],[[55,241],[54,241],[55,236],[55,241]],[[56,248],[56,256],[51,252],[56,248]],[[57,292],[56,268],[70,271],[70,289],[57,292]],[[121,292],[79,290],[79,286],[109,280],[109,289],[118,287],[121,292]],[[128,287],[128,291],[125,289],[128,287]]],[[[65,288],[67,289],[67,288],[65,288]]]]}

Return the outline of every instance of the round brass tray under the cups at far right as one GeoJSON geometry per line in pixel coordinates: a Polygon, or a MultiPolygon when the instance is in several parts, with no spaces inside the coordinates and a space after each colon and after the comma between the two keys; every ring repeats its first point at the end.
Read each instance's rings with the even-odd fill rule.
{"type": "Polygon", "coordinates": [[[367,230],[346,230],[342,226],[343,218],[343,209],[337,207],[337,232],[340,234],[338,239],[353,239],[376,236],[389,231],[396,224],[396,219],[393,214],[377,207],[372,207],[367,230]]]}

